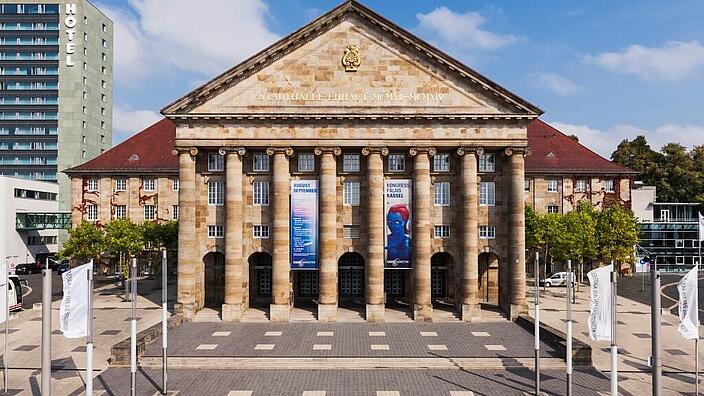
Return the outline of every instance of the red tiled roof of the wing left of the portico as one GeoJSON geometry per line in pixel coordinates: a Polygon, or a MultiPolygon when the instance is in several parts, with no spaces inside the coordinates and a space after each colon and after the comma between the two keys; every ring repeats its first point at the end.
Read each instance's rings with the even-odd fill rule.
{"type": "Polygon", "coordinates": [[[92,160],[64,172],[177,173],[178,157],[171,154],[175,139],[176,125],[163,119],[92,160]]]}

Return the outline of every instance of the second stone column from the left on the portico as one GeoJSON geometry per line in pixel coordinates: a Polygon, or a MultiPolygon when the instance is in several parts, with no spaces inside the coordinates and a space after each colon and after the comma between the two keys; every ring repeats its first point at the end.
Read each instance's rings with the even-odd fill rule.
{"type": "Polygon", "coordinates": [[[223,322],[242,318],[242,147],[223,147],[225,156],[225,304],[223,322]]]}

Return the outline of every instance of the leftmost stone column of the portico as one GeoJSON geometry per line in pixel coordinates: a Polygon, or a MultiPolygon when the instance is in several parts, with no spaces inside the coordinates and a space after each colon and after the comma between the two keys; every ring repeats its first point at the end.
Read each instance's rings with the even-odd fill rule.
{"type": "Polygon", "coordinates": [[[178,297],[175,311],[192,319],[196,313],[196,155],[195,147],[178,147],[178,297]]]}

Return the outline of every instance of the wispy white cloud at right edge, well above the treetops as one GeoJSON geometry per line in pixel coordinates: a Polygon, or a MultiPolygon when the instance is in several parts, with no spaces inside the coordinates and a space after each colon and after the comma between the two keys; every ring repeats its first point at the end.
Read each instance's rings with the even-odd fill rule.
{"type": "Polygon", "coordinates": [[[669,41],[662,47],[631,45],[619,52],[587,55],[588,62],[646,80],[679,80],[704,69],[704,46],[698,41],[669,41]]]}

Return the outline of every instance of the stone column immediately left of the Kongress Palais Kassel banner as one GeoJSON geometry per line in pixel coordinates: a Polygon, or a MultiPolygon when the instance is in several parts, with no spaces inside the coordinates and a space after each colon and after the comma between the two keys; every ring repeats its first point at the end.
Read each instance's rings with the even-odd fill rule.
{"type": "Polygon", "coordinates": [[[367,156],[367,265],[365,317],[384,321],[384,161],[386,147],[365,147],[367,156]]]}

